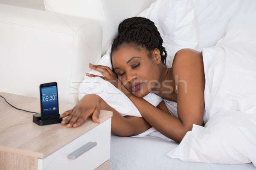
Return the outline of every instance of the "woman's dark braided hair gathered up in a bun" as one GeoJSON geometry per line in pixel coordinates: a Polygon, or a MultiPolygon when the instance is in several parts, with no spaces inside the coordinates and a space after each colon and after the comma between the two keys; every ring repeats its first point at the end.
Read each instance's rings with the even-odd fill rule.
{"type": "MultiPolygon", "coordinates": [[[[122,21],[118,26],[118,35],[113,40],[111,47],[111,63],[112,54],[122,44],[133,44],[134,47],[142,46],[150,52],[155,48],[159,49],[161,61],[166,64],[166,49],[162,46],[163,39],[160,36],[154,22],[145,17],[131,17],[122,21]],[[163,54],[164,52],[164,54],[163,54]]],[[[149,57],[152,56],[148,55],[149,57]]]]}

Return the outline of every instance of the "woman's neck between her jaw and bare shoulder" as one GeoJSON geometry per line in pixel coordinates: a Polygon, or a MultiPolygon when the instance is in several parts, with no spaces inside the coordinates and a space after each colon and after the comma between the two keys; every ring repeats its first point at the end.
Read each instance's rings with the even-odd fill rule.
{"type": "Polygon", "coordinates": [[[163,97],[164,99],[177,102],[175,79],[172,74],[172,68],[166,68],[166,66],[163,65],[163,67],[160,68],[160,73],[160,85],[152,89],[151,92],[163,97]]]}

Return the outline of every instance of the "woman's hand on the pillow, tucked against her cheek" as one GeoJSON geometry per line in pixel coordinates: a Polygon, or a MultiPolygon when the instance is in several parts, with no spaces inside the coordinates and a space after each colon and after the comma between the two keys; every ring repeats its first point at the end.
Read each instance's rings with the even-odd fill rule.
{"type": "Polygon", "coordinates": [[[125,88],[125,86],[122,84],[122,82],[118,79],[117,75],[107,66],[105,65],[93,65],[89,64],[89,67],[93,70],[99,71],[103,74],[103,76],[98,76],[94,74],[87,73],[86,75],[89,77],[100,77],[108,82],[110,82],[112,85],[114,85],[116,88],[118,88],[120,91],[122,91],[127,96],[130,95],[130,92],[125,88]]]}

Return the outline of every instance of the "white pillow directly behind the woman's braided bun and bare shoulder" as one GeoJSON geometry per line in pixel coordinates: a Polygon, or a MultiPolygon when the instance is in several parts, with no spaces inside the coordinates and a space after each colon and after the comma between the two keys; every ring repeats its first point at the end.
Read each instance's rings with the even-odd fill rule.
{"type": "Polygon", "coordinates": [[[167,52],[167,67],[172,67],[180,49],[198,49],[199,25],[192,0],[157,0],[138,16],[153,21],[160,32],[167,52]]]}

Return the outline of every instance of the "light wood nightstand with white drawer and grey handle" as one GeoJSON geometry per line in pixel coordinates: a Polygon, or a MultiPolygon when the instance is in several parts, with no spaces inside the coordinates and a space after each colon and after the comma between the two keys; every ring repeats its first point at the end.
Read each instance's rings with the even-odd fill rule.
{"type": "MultiPolygon", "coordinates": [[[[40,99],[0,92],[17,108],[40,113],[40,99]]],[[[75,104],[59,102],[60,113],[75,104]]],[[[108,170],[111,111],[101,110],[100,124],[90,118],[81,126],[67,128],[53,124],[39,126],[33,113],[20,111],[0,97],[0,170],[108,170]],[[76,159],[67,156],[84,144],[89,150],[76,159]]]]}

